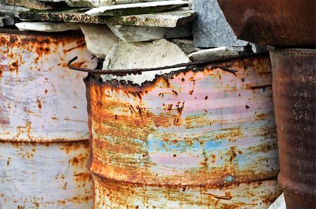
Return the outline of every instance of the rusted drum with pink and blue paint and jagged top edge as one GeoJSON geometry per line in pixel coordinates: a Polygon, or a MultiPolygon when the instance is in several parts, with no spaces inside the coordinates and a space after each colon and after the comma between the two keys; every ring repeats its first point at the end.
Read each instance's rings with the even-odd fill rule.
{"type": "Polygon", "coordinates": [[[85,82],[96,208],[267,208],[280,194],[268,55],[85,82]]]}

